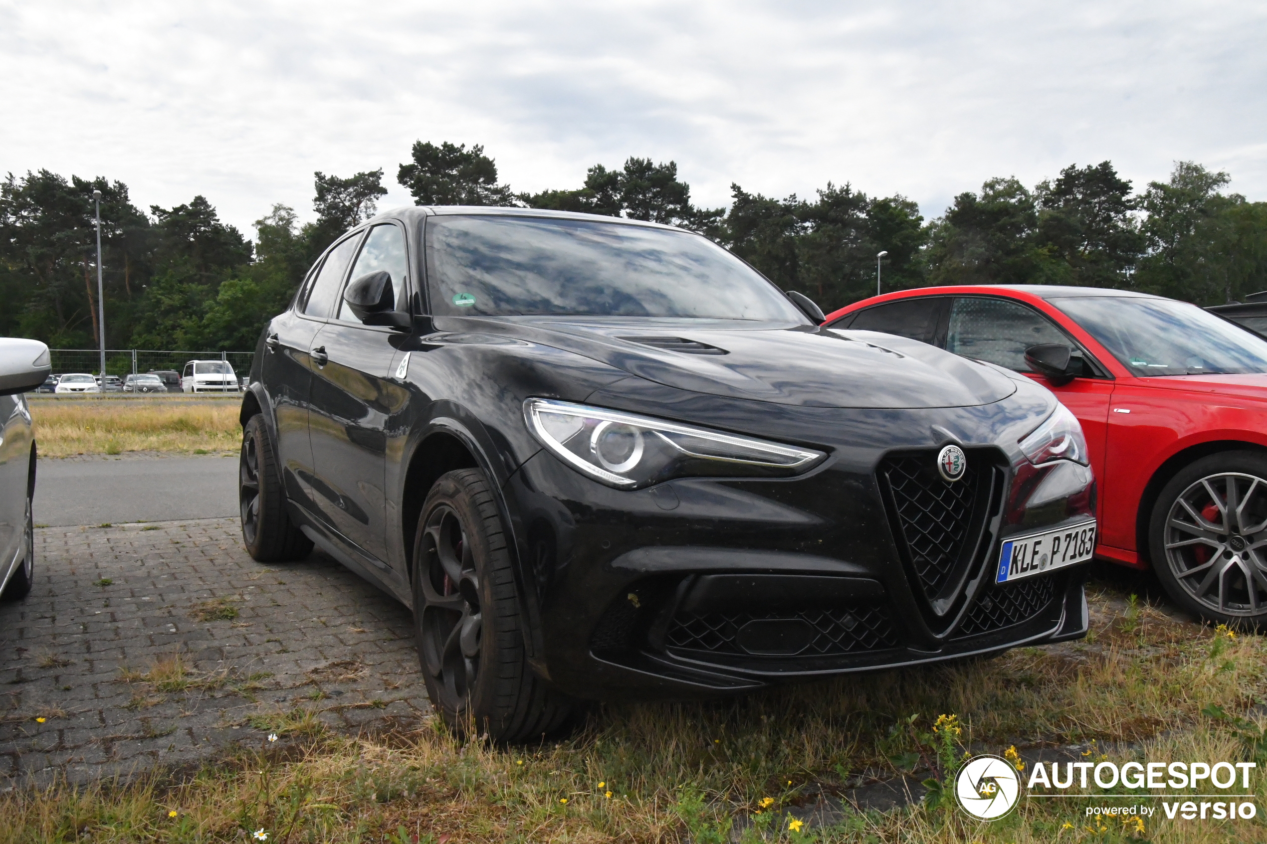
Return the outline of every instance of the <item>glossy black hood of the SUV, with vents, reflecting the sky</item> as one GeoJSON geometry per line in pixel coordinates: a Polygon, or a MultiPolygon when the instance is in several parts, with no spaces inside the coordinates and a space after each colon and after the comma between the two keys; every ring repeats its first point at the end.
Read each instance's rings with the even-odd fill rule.
{"type": "Polygon", "coordinates": [[[445,320],[443,328],[450,326],[574,352],[669,387],[782,405],[968,407],[1000,401],[1016,390],[1011,378],[991,367],[874,332],[559,316],[445,320]]]}

